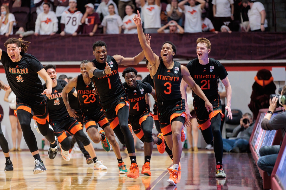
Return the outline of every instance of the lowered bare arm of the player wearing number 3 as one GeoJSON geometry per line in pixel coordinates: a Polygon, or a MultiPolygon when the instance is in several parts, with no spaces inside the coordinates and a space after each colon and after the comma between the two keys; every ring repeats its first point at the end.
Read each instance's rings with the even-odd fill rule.
{"type": "MultiPolygon", "coordinates": [[[[184,81],[188,85],[190,85],[190,87],[192,88],[194,93],[196,93],[196,95],[198,95],[200,98],[202,98],[204,100],[204,102],[205,102],[204,106],[206,107],[206,110],[208,110],[208,111],[211,110],[212,112],[214,112],[214,110],[212,109],[212,104],[210,103],[210,101],[208,101],[208,98],[206,98],[206,95],[204,95],[204,93],[202,92],[202,89],[200,89],[200,87],[195,83],[194,79],[190,76],[189,70],[183,65],[181,65],[181,73],[182,73],[184,81]]],[[[186,86],[186,85],[184,85],[184,86],[186,86]]],[[[187,88],[187,86],[186,86],[186,88],[187,88]]],[[[185,88],[185,90],[186,90],[186,88],[185,88]]]]}

